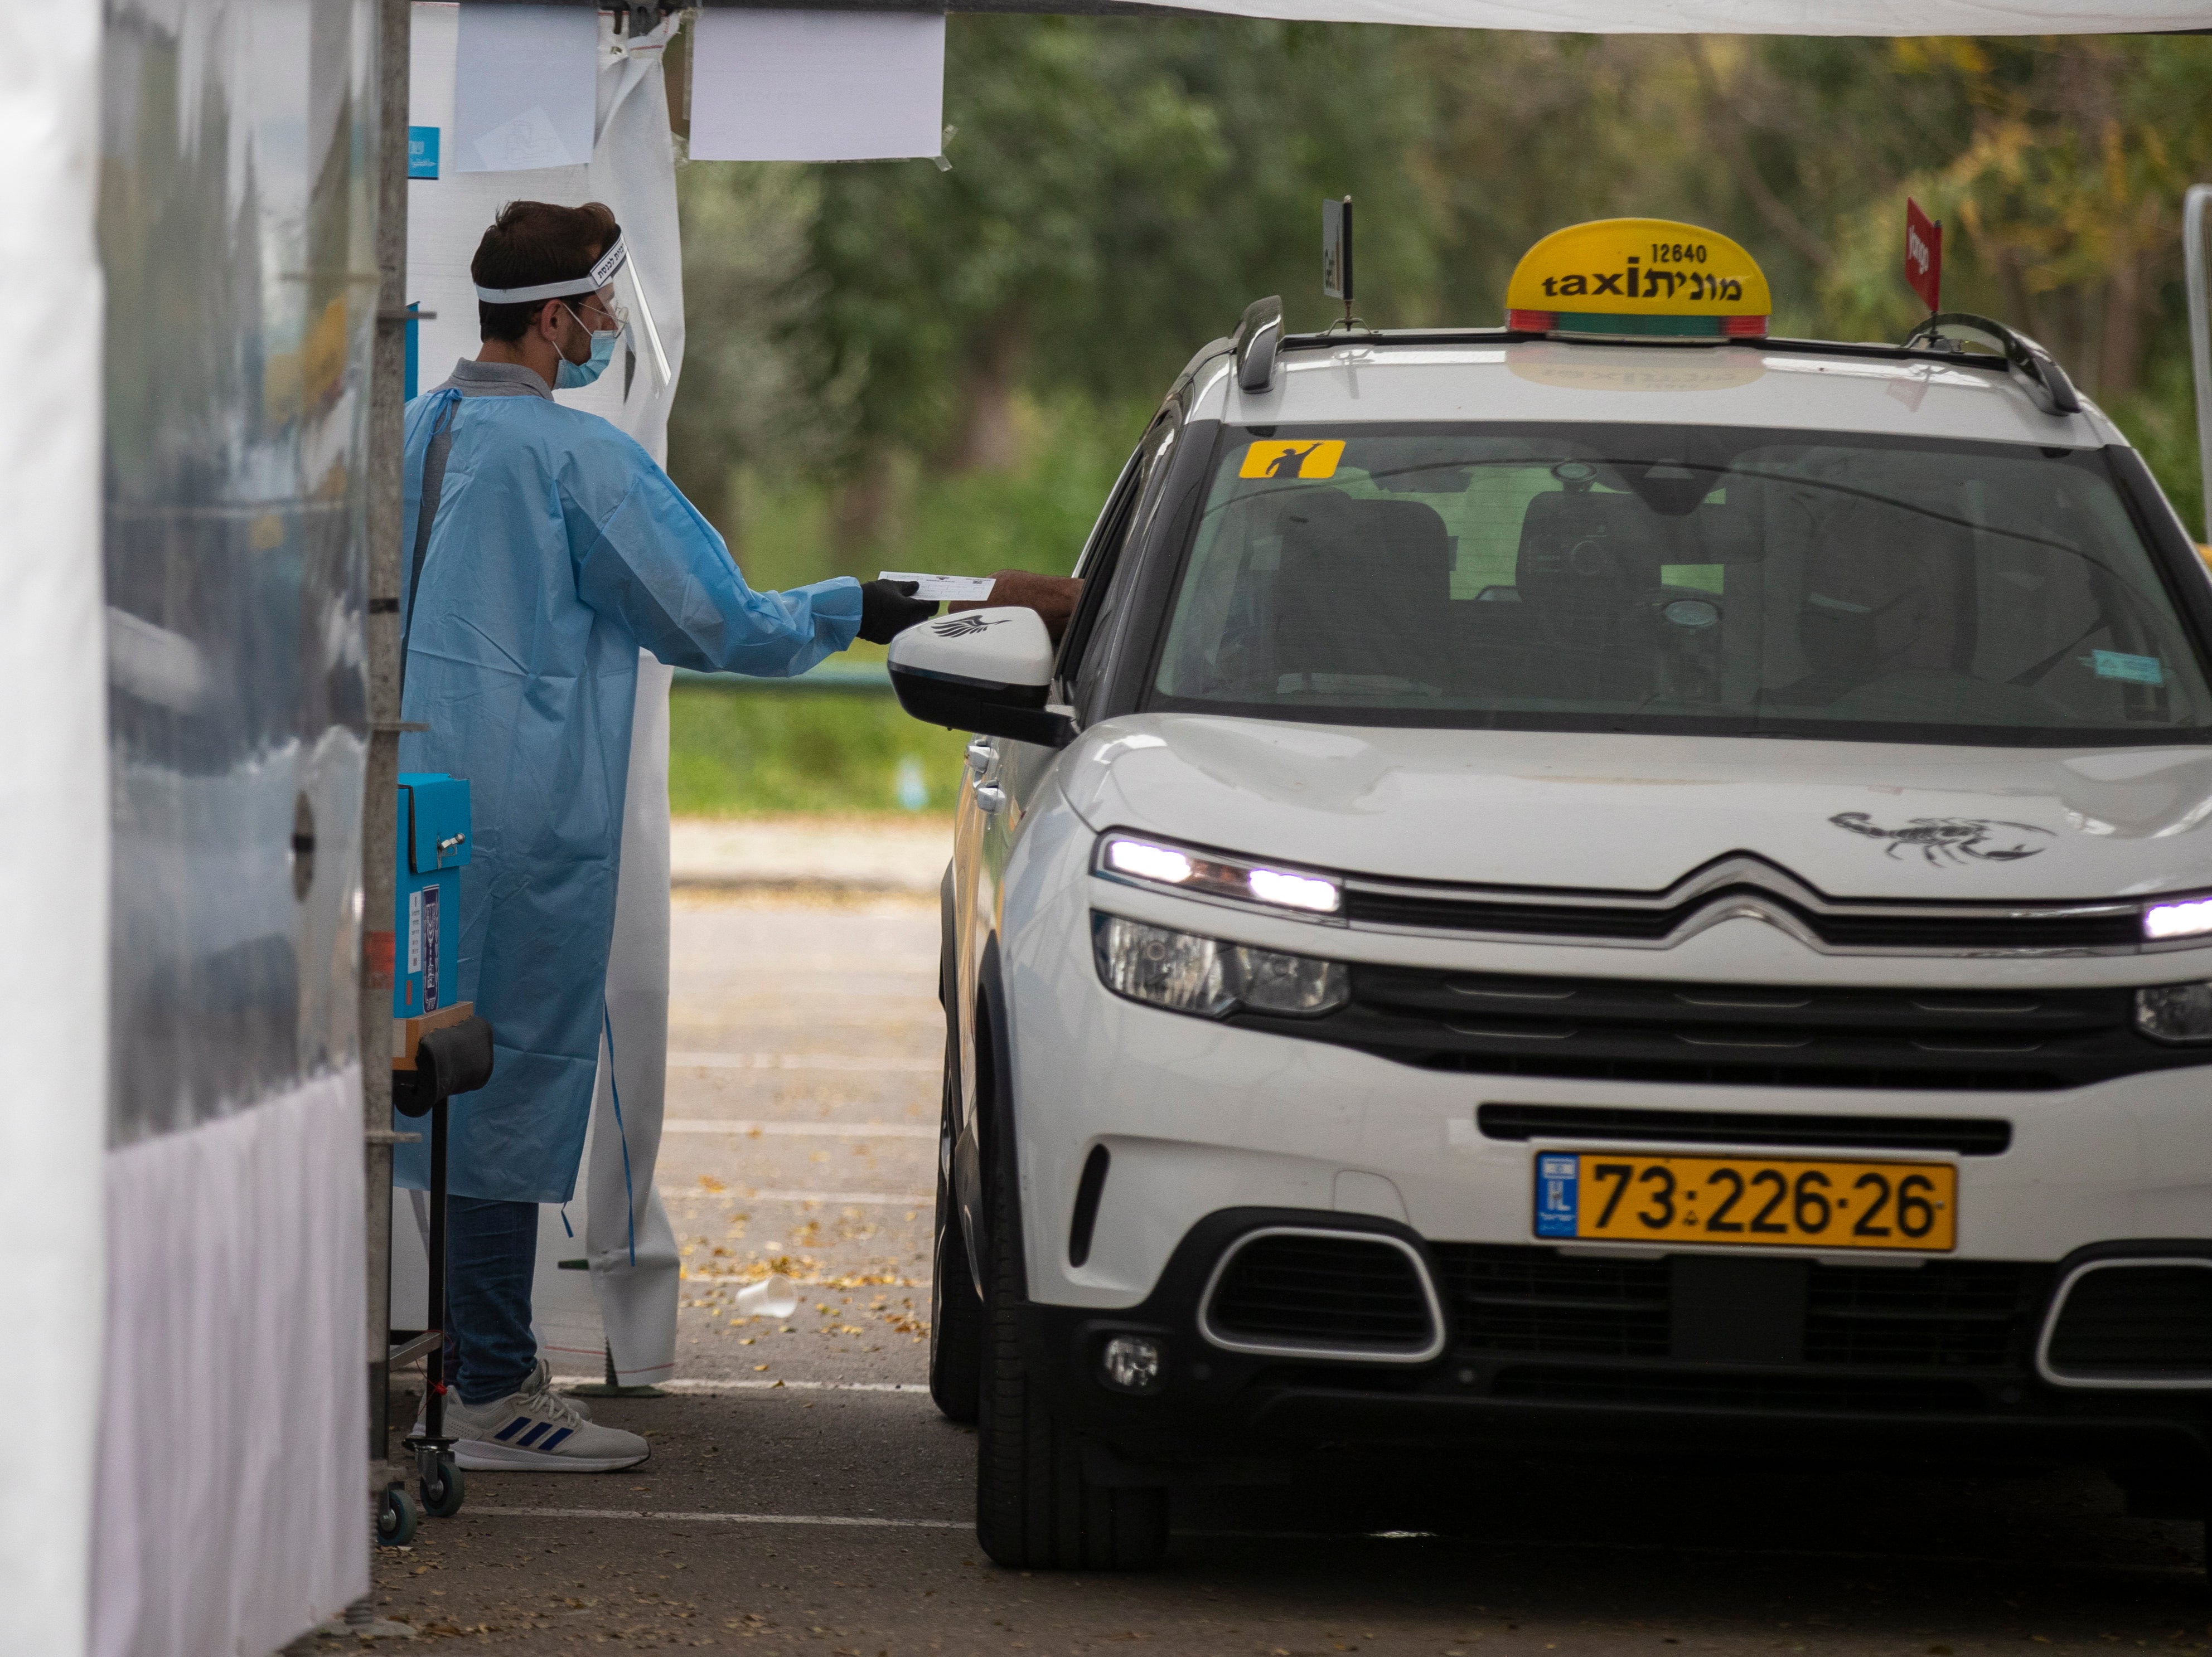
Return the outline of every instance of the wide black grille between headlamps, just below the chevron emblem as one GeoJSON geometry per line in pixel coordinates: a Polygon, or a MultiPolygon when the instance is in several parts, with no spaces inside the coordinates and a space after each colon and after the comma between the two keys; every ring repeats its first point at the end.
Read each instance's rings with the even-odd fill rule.
{"type": "Polygon", "coordinates": [[[1588,1082],[2042,1093],[2201,1066],[2135,991],[1858,989],[1352,967],[1327,1018],[1230,1022],[1440,1071],[1588,1082]]]}

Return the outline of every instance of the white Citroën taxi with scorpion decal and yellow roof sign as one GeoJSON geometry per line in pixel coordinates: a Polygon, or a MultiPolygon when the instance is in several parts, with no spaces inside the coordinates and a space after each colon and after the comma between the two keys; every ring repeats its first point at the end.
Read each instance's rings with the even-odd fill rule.
{"type": "Polygon", "coordinates": [[[2212,582],[2033,341],[1694,226],[1175,381],[945,887],[931,1380],[1002,1564],[1318,1445],[2212,1491],[2212,582]]]}

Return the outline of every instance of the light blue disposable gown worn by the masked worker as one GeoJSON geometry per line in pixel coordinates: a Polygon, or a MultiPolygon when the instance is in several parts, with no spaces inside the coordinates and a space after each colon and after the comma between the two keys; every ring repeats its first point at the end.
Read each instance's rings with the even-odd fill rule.
{"type": "MultiPolygon", "coordinates": [[[[637,650],[679,668],[805,673],[852,644],[860,588],[754,593],[637,442],[555,403],[526,367],[462,363],[407,405],[403,591],[422,458],[447,409],[453,447],[403,699],[429,730],[400,739],[400,770],[469,779],[453,998],[491,1020],[498,1053],[491,1086],[453,1100],[447,1188],[557,1203],[591,1117],[637,650]]],[[[429,1184],[425,1146],[398,1148],[398,1179],[429,1184]]]]}

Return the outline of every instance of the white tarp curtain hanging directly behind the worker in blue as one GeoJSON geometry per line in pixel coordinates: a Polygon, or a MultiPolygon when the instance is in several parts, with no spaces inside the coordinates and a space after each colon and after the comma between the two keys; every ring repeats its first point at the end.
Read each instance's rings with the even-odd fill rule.
{"type": "MultiPolygon", "coordinates": [[[[458,11],[453,4],[416,0],[414,126],[451,126],[456,64],[465,62],[458,60],[458,11]]],[[[684,365],[684,268],[661,82],[661,46],[677,22],[668,20],[635,40],[617,38],[604,18],[597,27],[597,122],[588,166],[447,173],[407,188],[407,296],[422,310],[438,312],[436,321],[422,323],[420,389],[438,385],[456,358],[478,352],[469,259],[500,206],[515,199],[606,201],[622,223],[630,277],[641,285],[646,303],[639,305],[639,288],[630,285],[630,277],[617,279],[617,299],[630,308],[633,327],[597,385],[562,392],[560,398],[606,416],[655,460],[666,460],[668,407],[684,365]],[[659,352],[641,321],[644,310],[653,314],[659,352]]],[[[604,1345],[611,1345],[626,1385],[666,1380],[675,1367],[677,1338],[677,1241],[653,1184],[668,1071],[670,679],[666,666],[639,657],[622,880],[606,969],[615,1064],[608,1066],[602,1044],[577,1199],[566,1210],[546,1208],[538,1223],[538,1338],[555,1374],[597,1378],[604,1345]],[[617,1086],[622,1128],[615,1113],[617,1086]],[[588,1274],[562,1270],[564,1259],[591,1261],[588,1274]]],[[[467,1102],[456,1108],[467,1108],[467,1102]]],[[[407,1206],[394,1226],[392,1276],[394,1327],[420,1327],[425,1268],[420,1234],[407,1206]]]]}

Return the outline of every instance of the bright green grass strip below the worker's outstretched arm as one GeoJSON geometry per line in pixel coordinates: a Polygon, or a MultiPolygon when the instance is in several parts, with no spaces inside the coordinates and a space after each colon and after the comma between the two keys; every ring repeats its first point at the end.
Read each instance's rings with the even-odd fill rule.
{"type": "Polygon", "coordinates": [[[967,737],[920,726],[880,692],[677,686],[668,810],[677,816],[898,812],[900,761],[947,812],[967,737]]]}

